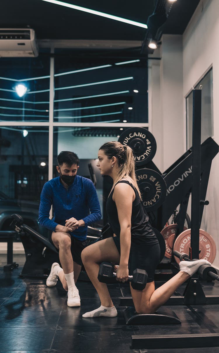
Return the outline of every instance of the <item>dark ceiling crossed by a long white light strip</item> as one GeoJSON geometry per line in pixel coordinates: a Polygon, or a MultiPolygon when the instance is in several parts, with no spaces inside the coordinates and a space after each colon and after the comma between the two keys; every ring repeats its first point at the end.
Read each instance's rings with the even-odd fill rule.
{"type": "MultiPolygon", "coordinates": [[[[165,34],[183,34],[200,0],[174,2],[167,18],[165,34]]],[[[65,0],[114,16],[147,23],[156,0],[65,0]]],[[[30,26],[37,39],[143,41],[146,29],[94,14],[73,10],[42,0],[1,0],[0,27],[30,26]]]]}

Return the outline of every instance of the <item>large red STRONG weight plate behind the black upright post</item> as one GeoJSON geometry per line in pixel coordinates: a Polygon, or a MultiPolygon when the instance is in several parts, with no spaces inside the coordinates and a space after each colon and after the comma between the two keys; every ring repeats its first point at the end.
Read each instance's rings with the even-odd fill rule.
{"type": "MultiPolygon", "coordinates": [[[[173,245],[173,251],[177,250],[180,253],[185,253],[189,255],[189,247],[191,240],[191,229],[187,229],[183,231],[176,238],[176,241],[173,245]]],[[[209,262],[213,262],[216,256],[216,246],[214,243],[214,239],[210,234],[203,231],[203,229],[199,229],[199,250],[201,250],[199,254],[200,259],[206,259],[209,262]]],[[[176,262],[179,264],[180,259],[174,256],[176,262]]]]}

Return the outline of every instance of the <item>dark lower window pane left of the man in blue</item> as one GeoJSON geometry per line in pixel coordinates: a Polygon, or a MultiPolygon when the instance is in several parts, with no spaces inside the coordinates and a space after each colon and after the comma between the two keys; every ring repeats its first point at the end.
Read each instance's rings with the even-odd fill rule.
{"type": "Polygon", "coordinates": [[[0,126],[0,229],[12,213],[41,234],[40,193],[48,180],[48,127],[0,126]]]}

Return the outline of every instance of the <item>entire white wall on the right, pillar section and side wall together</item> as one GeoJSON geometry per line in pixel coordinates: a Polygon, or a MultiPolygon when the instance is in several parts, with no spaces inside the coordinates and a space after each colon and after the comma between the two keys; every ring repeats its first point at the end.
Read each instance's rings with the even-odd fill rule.
{"type": "MultiPolygon", "coordinates": [[[[164,172],[187,149],[185,97],[213,66],[214,139],[219,144],[219,1],[201,0],[183,36],[163,35],[149,60],[150,131],[158,148],[154,163],[164,172]]],[[[213,159],[201,228],[214,239],[219,268],[219,154],[213,159]]]]}

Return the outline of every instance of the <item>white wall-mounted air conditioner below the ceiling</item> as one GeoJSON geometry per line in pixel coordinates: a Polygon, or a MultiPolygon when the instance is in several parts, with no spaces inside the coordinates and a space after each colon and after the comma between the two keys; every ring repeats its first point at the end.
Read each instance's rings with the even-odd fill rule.
{"type": "Polygon", "coordinates": [[[0,28],[0,57],[34,57],[38,54],[33,29],[0,28]]]}

